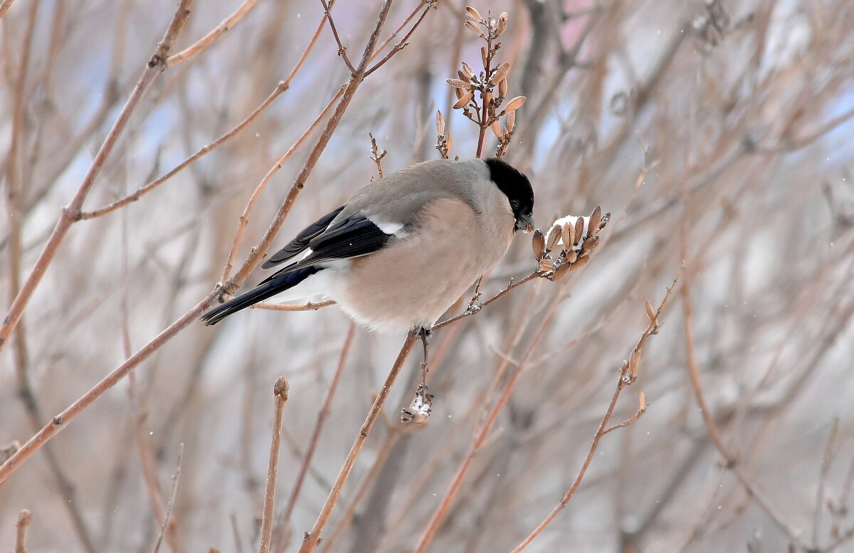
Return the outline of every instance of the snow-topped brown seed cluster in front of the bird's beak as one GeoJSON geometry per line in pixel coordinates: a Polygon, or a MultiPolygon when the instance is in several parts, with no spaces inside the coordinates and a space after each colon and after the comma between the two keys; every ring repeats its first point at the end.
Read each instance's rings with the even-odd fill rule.
{"type": "Polygon", "coordinates": [[[599,246],[600,234],[608,225],[611,213],[602,214],[596,206],[589,217],[567,215],[554,222],[547,235],[534,231],[531,247],[542,277],[559,281],[570,271],[590,262],[590,252],[599,246]],[[559,249],[556,249],[559,248],[559,249]]]}

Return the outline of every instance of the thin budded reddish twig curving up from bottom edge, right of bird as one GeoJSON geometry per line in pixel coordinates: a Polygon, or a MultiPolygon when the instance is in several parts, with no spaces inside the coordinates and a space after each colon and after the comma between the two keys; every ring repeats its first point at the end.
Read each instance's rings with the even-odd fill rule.
{"type": "MultiPolygon", "coordinates": [[[[590,463],[593,461],[593,457],[596,453],[596,449],[599,447],[600,440],[602,436],[604,436],[610,430],[606,430],[608,426],[608,422],[611,420],[611,415],[614,412],[614,408],[617,406],[617,399],[620,398],[620,392],[623,391],[624,387],[629,386],[633,381],[635,381],[635,376],[637,372],[637,363],[640,361],[640,352],[642,351],[643,345],[646,342],[646,339],[651,335],[654,335],[658,332],[658,328],[660,324],[658,321],[661,317],[661,312],[664,310],[664,306],[667,304],[668,298],[670,298],[670,294],[673,292],[673,288],[676,287],[676,282],[679,280],[679,277],[682,273],[682,267],[679,268],[679,271],[676,272],[676,277],[673,279],[673,283],[670,284],[670,288],[667,288],[667,293],[664,294],[664,299],[661,300],[661,303],[658,305],[658,310],[655,312],[655,317],[651,317],[649,324],[647,324],[646,329],[643,331],[643,334],[640,335],[640,339],[635,344],[635,347],[632,348],[631,353],[629,354],[629,361],[623,363],[623,369],[620,370],[620,375],[617,380],[617,389],[614,390],[613,396],[611,396],[611,404],[608,405],[608,409],[605,410],[605,416],[602,417],[602,421],[599,424],[599,429],[596,431],[594,435],[593,443],[590,445],[590,450],[588,451],[587,457],[584,458],[584,462],[582,463],[582,468],[578,470],[578,474],[576,474],[576,479],[572,481],[572,485],[570,489],[564,493],[564,497],[560,499],[560,502],[552,509],[543,521],[534,528],[534,530],[529,533],[527,538],[524,538],[520,544],[516,546],[515,549],[512,550],[512,553],[519,553],[519,551],[524,550],[534,539],[542,533],[543,530],[554,520],[554,517],[558,515],[558,513],[569,504],[572,496],[575,495],[578,486],[581,486],[582,479],[584,478],[584,474],[587,473],[587,469],[590,466],[590,463]],[[636,352],[636,353],[635,353],[636,352]]],[[[639,415],[640,416],[640,415],[639,415]]],[[[626,423],[628,424],[628,422],[626,423]]],[[[620,425],[617,425],[619,427],[620,425]]]]}

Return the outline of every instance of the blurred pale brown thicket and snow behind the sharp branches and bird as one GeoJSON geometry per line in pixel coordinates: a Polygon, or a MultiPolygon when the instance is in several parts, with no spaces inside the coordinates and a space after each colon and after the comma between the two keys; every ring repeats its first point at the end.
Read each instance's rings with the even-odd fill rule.
{"type": "MultiPolygon", "coordinates": [[[[322,25],[317,1],[248,4],[228,32],[155,81],[85,211],[230,131],[288,77],[322,25]]],[[[332,9],[354,63],[379,5],[339,0],[332,9]]],[[[197,2],[173,53],[240,6],[197,2]]],[[[451,154],[475,154],[477,126],[450,108],[455,97],[445,83],[460,61],[480,66],[483,41],[463,26],[464,6],[439,0],[407,47],[360,86],[273,247],[377,178],[368,132],[388,150],[383,169],[393,172],[438,157],[439,109],[451,154]]],[[[646,413],[603,437],[576,495],[525,550],[851,550],[854,4],[475,6],[494,18],[509,13],[497,57],[512,65],[508,96],[528,101],[506,160],[534,183],[539,226],[597,205],[612,213],[611,224],[582,271],[561,282],[537,279],[437,330],[433,413],[424,425],[406,426],[399,415],[420,377],[415,350],[319,550],[412,550],[484,413],[521,370],[427,547],[511,551],[576,478],[623,360],[649,323],[644,303],[658,306],[683,259],[662,327],[646,341],[638,381],[623,389],[611,423],[635,415],[641,392],[646,413]]],[[[3,312],[174,7],[172,0],[17,0],[0,20],[3,312]]],[[[381,39],[402,31],[381,55],[423,7],[395,1],[381,39]]],[[[26,442],[213,289],[253,190],[347,80],[336,51],[323,26],[290,89],[246,128],[139,201],[73,224],[0,352],[0,446],[26,442]]],[[[238,266],[318,136],[310,132],[261,193],[238,266]]],[[[488,133],[486,151],[495,144],[488,133]]],[[[484,279],[484,297],[535,268],[529,239],[519,235],[484,279]]],[[[256,271],[244,286],[259,280],[256,271]]],[[[463,308],[465,300],[455,307],[463,308]]],[[[13,549],[26,508],[31,551],[152,550],[184,444],[161,550],[254,550],[272,387],[284,375],[290,399],[273,550],[298,549],[403,341],[354,330],[294,496],[350,326],[334,306],[244,311],[215,328],[190,324],[0,487],[0,547],[13,549]]]]}

